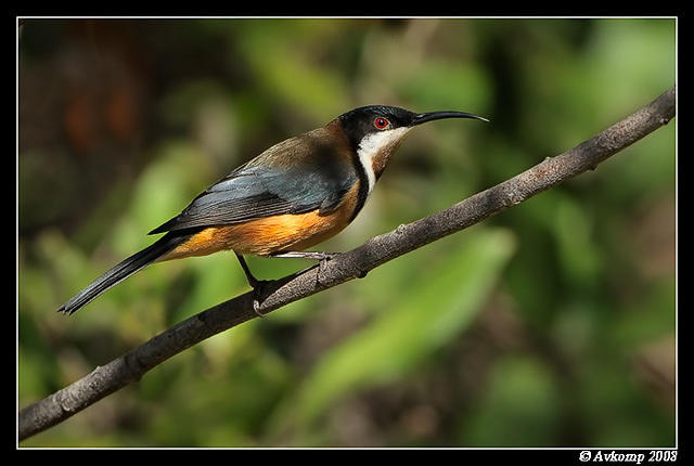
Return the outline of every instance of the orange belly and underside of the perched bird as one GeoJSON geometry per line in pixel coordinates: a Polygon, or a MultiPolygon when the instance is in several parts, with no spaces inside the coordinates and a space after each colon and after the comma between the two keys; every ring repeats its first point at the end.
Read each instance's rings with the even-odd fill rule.
{"type": "Polygon", "coordinates": [[[159,261],[206,256],[218,250],[267,256],[278,251],[307,249],[336,235],[349,224],[357,207],[358,193],[359,182],[335,210],[323,215],[313,210],[206,228],[162,256],[159,261]]]}

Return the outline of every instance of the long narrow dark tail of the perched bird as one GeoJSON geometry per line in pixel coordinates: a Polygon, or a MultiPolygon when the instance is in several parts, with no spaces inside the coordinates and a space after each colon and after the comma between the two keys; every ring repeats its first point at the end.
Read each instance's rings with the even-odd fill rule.
{"type": "Polygon", "coordinates": [[[64,312],[68,315],[73,314],[106,289],[117,285],[128,276],[144,269],[146,266],[156,261],[159,257],[185,242],[188,238],[190,238],[190,235],[187,234],[167,233],[153,245],[133,254],[101,275],[99,279],[94,280],[89,286],[61,306],[57,312],[64,312]]]}

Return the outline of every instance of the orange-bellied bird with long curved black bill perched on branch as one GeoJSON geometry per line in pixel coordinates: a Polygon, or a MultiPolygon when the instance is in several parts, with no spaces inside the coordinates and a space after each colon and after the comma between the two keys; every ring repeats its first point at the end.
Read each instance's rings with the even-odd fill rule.
{"type": "Polygon", "coordinates": [[[355,220],[413,128],[445,118],[489,121],[466,112],[368,105],[282,141],[197,195],[149,233],[164,236],[106,271],[57,311],[75,313],[154,262],[232,250],[258,292],[264,281],[252,274],[244,256],[327,260],[331,254],[306,249],[355,220]]]}

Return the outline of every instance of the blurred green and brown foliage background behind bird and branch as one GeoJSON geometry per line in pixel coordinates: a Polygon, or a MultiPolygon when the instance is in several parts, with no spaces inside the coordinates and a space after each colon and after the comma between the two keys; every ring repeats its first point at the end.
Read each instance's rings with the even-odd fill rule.
{"type": "MultiPolygon", "coordinates": [[[[231,253],[59,306],[232,168],[368,104],[414,131],[346,250],[674,85],[674,20],[26,20],[18,405],[247,290],[231,253]]],[[[677,119],[595,171],[222,333],[30,446],[672,446],[677,119]]],[[[273,279],[311,264],[250,258],[273,279]]]]}

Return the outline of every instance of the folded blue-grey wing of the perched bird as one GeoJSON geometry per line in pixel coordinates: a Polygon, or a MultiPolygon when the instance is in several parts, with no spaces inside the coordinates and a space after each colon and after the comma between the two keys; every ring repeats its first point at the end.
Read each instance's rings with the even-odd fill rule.
{"type": "Polygon", "coordinates": [[[241,223],[283,213],[330,211],[357,182],[349,167],[246,164],[200,194],[177,217],[150,234],[241,223]]]}

